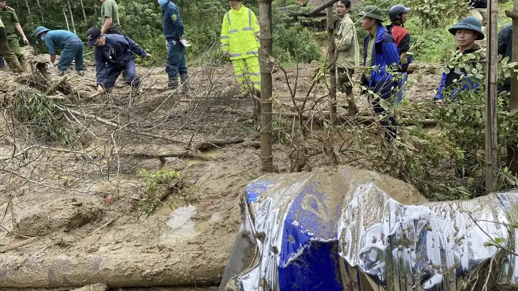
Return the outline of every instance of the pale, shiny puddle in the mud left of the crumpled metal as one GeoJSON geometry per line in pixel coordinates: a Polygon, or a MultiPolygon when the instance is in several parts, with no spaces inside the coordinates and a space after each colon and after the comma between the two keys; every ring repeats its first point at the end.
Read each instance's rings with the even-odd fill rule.
{"type": "Polygon", "coordinates": [[[200,222],[195,222],[191,217],[198,213],[203,213],[207,210],[207,206],[196,203],[189,203],[188,205],[181,205],[175,201],[176,205],[180,207],[163,207],[153,211],[156,215],[167,215],[169,219],[166,221],[168,229],[161,235],[160,241],[167,245],[176,245],[185,240],[192,239],[198,235],[203,234],[213,223],[221,220],[219,213],[213,213],[210,219],[200,222]]]}

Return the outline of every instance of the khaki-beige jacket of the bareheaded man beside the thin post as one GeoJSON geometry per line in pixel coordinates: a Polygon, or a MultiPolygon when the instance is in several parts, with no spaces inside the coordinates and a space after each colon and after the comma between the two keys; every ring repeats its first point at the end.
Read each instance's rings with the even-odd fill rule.
{"type": "Polygon", "coordinates": [[[359,45],[356,28],[349,14],[345,14],[338,23],[335,32],[337,68],[353,69],[359,66],[359,45]]]}

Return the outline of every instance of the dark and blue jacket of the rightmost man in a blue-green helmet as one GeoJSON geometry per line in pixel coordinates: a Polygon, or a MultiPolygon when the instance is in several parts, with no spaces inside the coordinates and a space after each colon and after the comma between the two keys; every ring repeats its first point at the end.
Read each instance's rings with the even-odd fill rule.
{"type": "MultiPolygon", "coordinates": [[[[474,45],[471,49],[465,50],[462,54],[470,54],[474,53],[476,51],[480,50],[479,45],[474,45]]],[[[484,57],[480,57],[480,60],[477,61],[477,59],[470,60],[472,62],[472,67],[475,67],[475,64],[481,63],[482,66],[484,66],[484,57]]],[[[455,68],[451,68],[450,71],[447,73],[443,72],[441,77],[441,83],[439,85],[439,88],[437,89],[437,95],[435,96],[436,99],[442,99],[444,97],[444,94],[447,94],[451,99],[455,99],[455,93],[459,91],[467,91],[471,89],[478,90],[477,88],[480,85],[479,81],[474,79],[474,77],[465,78],[467,75],[466,69],[462,67],[461,70],[456,70],[455,68]],[[461,78],[463,78],[461,80],[461,78]]]]}

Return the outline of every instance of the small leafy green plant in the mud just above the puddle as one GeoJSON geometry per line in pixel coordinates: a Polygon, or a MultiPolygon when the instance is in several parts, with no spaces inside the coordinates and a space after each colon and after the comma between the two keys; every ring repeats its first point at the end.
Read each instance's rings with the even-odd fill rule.
{"type": "Polygon", "coordinates": [[[160,196],[162,193],[170,192],[179,186],[180,172],[170,169],[160,169],[152,172],[142,169],[139,175],[143,177],[143,183],[146,186],[139,208],[141,213],[148,215],[161,203],[160,196]]]}

